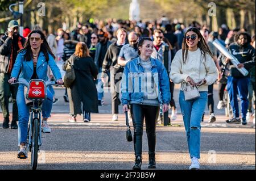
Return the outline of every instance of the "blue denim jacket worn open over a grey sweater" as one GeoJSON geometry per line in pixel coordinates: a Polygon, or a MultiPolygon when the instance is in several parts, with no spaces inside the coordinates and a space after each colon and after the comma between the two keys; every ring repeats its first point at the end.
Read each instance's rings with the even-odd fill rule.
{"type": "MultiPolygon", "coordinates": [[[[151,74],[154,79],[154,85],[156,86],[157,98],[160,104],[169,104],[171,98],[170,92],[170,80],[164,68],[164,65],[159,60],[150,57],[151,61],[151,74]]],[[[128,104],[130,101],[142,104],[143,95],[145,90],[143,86],[145,82],[144,69],[141,65],[141,57],[130,60],[125,65],[121,81],[122,92],[122,104],[128,104]]]]}

